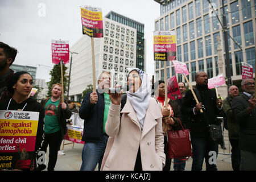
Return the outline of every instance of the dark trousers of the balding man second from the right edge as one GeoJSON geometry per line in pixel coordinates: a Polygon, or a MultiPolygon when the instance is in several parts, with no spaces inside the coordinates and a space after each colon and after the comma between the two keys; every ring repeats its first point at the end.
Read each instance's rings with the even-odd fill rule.
{"type": "Polygon", "coordinates": [[[232,161],[232,168],[234,171],[240,171],[240,163],[241,163],[241,152],[238,148],[238,139],[229,139],[229,142],[232,146],[231,149],[231,161],[232,161]]]}

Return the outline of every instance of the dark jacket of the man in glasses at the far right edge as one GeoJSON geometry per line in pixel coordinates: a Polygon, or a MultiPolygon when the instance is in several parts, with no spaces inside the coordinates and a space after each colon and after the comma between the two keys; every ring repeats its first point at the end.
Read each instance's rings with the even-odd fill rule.
{"type": "Polygon", "coordinates": [[[256,107],[247,113],[250,98],[241,93],[233,98],[232,110],[234,118],[240,125],[239,148],[240,150],[256,152],[256,107]]]}

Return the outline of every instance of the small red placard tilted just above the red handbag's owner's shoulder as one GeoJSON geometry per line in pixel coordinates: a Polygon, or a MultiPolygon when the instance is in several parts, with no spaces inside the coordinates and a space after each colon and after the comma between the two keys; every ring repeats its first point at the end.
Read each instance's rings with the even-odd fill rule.
{"type": "Polygon", "coordinates": [[[182,98],[179,85],[177,84],[176,75],[167,80],[167,97],[171,100],[177,100],[182,98]]]}

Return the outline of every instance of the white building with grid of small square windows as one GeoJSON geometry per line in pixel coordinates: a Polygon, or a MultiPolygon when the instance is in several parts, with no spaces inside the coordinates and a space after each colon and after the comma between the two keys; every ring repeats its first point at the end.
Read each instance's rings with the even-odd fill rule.
{"type": "MultiPolygon", "coordinates": [[[[111,73],[112,86],[124,85],[128,75],[127,68],[136,66],[137,30],[105,17],[103,25],[104,37],[94,38],[96,85],[102,71],[111,73]]],[[[73,54],[72,57],[69,98],[81,102],[82,92],[87,85],[93,84],[90,37],[83,35],[71,46],[71,51],[78,54],[73,54]]]]}

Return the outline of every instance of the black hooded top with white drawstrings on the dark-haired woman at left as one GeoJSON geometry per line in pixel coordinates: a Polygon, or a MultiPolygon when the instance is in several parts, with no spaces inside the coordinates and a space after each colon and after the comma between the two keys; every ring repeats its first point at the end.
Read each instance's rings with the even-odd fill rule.
{"type": "MultiPolygon", "coordinates": [[[[3,102],[0,102],[0,110],[6,110],[7,105],[9,103],[9,99],[3,102]]],[[[42,143],[44,140],[44,109],[43,106],[33,100],[32,98],[28,98],[26,101],[17,104],[13,99],[10,102],[9,110],[18,110],[23,109],[23,111],[34,111],[39,112],[39,119],[38,119],[38,131],[36,133],[36,143],[35,143],[35,152],[38,152],[40,148],[42,148],[42,143]],[[24,105],[27,103],[26,107],[24,105]]]]}

